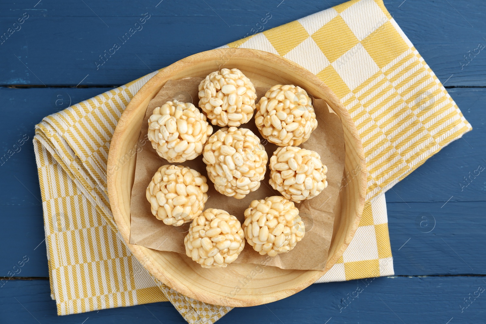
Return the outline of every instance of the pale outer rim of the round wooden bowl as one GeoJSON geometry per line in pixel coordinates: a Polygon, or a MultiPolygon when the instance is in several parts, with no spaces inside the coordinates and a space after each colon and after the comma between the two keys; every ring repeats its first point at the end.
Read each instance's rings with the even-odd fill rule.
{"type": "MultiPolygon", "coordinates": [[[[311,83],[317,85],[319,84],[319,88],[322,92],[325,93],[325,95],[328,97],[326,98],[326,101],[331,101],[333,103],[332,109],[338,114],[338,116],[341,119],[341,122],[343,123],[343,127],[347,127],[348,129],[351,130],[350,134],[352,135],[352,139],[354,141],[354,145],[357,148],[357,157],[359,160],[359,164],[361,166],[361,170],[359,171],[358,175],[356,177],[361,178],[361,181],[358,181],[358,184],[362,184],[361,188],[358,188],[358,195],[359,195],[359,205],[357,207],[357,212],[356,212],[356,218],[355,222],[351,224],[351,230],[349,231],[349,235],[346,235],[343,244],[341,245],[341,248],[339,250],[336,250],[334,252],[334,256],[331,257],[330,260],[326,263],[326,268],[323,271],[318,271],[318,270],[306,270],[307,275],[300,275],[299,276],[299,282],[293,289],[287,289],[286,290],[286,296],[282,297],[288,297],[292,294],[297,293],[300,290],[303,290],[310,286],[312,283],[314,283],[318,278],[320,278],[324,273],[329,271],[329,269],[338,261],[338,259],[343,255],[344,251],[346,250],[347,246],[351,242],[352,238],[354,237],[354,234],[358,228],[358,224],[361,219],[361,215],[363,213],[363,208],[364,208],[364,203],[365,203],[365,193],[366,193],[366,178],[367,178],[367,171],[366,171],[366,163],[365,163],[365,158],[364,158],[364,151],[363,151],[363,145],[361,138],[358,135],[358,130],[356,129],[356,125],[351,119],[351,116],[347,112],[346,108],[343,106],[339,98],[331,91],[331,89],[325,85],[324,82],[322,82],[319,78],[317,78],[314,74],[312,74],[309,70],[301,67],[300,65],[297,65],[295,62],[290,61],[284,57],[281,57],[279,55],[266,52],[266,51],[259,51],[259,50],[253,50],[253,49],[242,49],[238,48],[236,49],[238,51],[238,56],[240,57],[248,57],[248,58],[254,58],[256,55],[260,57],[263,61],[267,60],[280,60],[280,64],[282,65],[287,65],[287,68],[293,69],[296,71],[296,73],[299,74],[300,78],[302,79],[307,79],[311,83]],[[364,166],[364,167],[363,167],[364,166]]],[[[167,80],[170,79],[170,75],[174,71],[179,71],[181,68],[187,67],[188,65],[191,64],[191,62],[200,62],[201,60],[208,60],[207,56],[208,53],[210,54],[209,56],[218,56],[218,57],[225,57],[225,55],[228,54],[229,51],[235,51],[234,48],[221,48],[221,49],[214,49],[210,51],[203,51],[199,52],[196,54],[193,54],[191,56],[185,57],[170,66],[166,68],[162,68],[158,71],[156,75],[154,75],[149,81],[147,81],[140,89],[139,91],[133,96],[132,100],[128,103],[126,108],[124,109],[118,124],[115,128],[115,131],[112,136],[112,140],[110,143],[110,149],[108,153],[108,160],[107,160],[107,191],[108,191],[108,198],[112,210],[113,217],[115,219],[115,222],[117,224],[117,228],[121,233],[122,238],[125,240],[126,245],[130,249],[130,251],[133,253],[135,257],[137,257],[138,260],[143,259],[144,263],[143,266],[150,272],[152,273],[158,280],[160,280],[162,283],[165,285],[169,286],[170,288],[182,293],[183,295],[201,300],[201,295],[200,294],[195,294],[191,287],[189,287],[186,283],[180,281],[178,278],[174,276],[167,276],[165,273],[161,272],[159,267],[157,267],[156,264],[152,262],[152,260],[148,257],[145,256],[144,249],[150,250],[149,248],[137,245],[137,244],[130,244],[130,223],[127,224],[125,222],[125,219],[123,217],[123,212],[121,210],[121,206],[118,203],[117,200],[117,192],[116,192],[116,177],[114,174],[111,174],[108,172],[108,170],[114,170],[113,168],[116,166],[116,156],[118,151],[120,151],[120,142],[121,142],[121,136],[124,133],[126,127],[132,120],[133,115],[135,114],[135,108],[139,106],[140,102],[142,102],[145,98],[141,97],[141,94],[145,91],[147,91],[150,88],[153,88],[157,84],[160,84],[163,81],[160,81],[160,79],[167,78],[167,80]],[[156,273],[156,274],[155,274],[156,273]]],[[[167,80],[165,82],[167,82],[167,80]]],[[[165,84],[164,82],[164,84],[165,84]]],[[[153,94],[155,96],[156,93],[153,94]]],[[[324,98],[323,98],[324,99],[324,98]]],[[[329,103],[329,102],[328,102],[329,103]]],[[[132,157],[133,158],[133,157],[132,157]]],[[[175,253],[175,252],[166,252],[166,251],[159,251],[163,253],[175,253]]],[[[288,271],[295,271],[295,270],[288,270],[288,271]]],[[[206,297],[208,297],[205,300],[201,300],[205,303],[208,304],[214,304],[214,305],[221,305],[221,298],[217,297],[217,294],[214,293],[208,293],[206,297]]],[[[261,304],[266,304],[269,302],[273,302],[282,298],[272,298],[271,295],[265,294],[264,296],[260,295],[255,295],[256,297],[254,299],[238,299],[238,297],[226,297],[225,296],[225,301],[226,305],[222,306],[229,306],[229,307],[249,307],[249,306],[256,306],[256,305],[261,305],[261,304]],[[263,302],[262,302],[263,300],[263,302]]]]}

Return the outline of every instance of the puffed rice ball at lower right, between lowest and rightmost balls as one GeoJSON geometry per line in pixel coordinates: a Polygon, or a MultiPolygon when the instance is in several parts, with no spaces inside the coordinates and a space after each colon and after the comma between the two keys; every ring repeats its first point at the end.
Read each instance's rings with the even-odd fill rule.
{"type": "Polygon", "coordinates": [[[244,236],[261,255],[289,252],[304,238],[305,225],[299,210],[281,196],[252,201],[244,217],[244,236]]]}

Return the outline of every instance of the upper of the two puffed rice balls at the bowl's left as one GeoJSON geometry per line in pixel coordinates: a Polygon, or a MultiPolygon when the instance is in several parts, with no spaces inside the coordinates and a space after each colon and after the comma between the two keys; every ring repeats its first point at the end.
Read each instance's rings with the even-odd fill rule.
{"type": "Polygon", "coordinates": [[[148,123],[152,147],[160,157],[171,163],[199,156],[212,134],[212,126],[206,121],[206,116],[191,102],[168,101],[154,109],[148,123]]]}

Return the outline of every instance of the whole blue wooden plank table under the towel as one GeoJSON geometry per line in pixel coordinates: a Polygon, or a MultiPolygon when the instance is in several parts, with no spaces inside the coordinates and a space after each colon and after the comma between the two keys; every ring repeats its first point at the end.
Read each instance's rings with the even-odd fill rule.
{"type": "MultiPolygon", "coordinates": [[[[1,154],[18,151],[0,166],[0,277],[28,258],[0,287],[0,323],[185,323],[168,302],[56,315],[34,125],[69,103],[242,38],[266,13],[272,15],[267,29],[342,0],[37,1],[0,1],[0,34],[23,21],[0,45],[1,154]],[[150,19],[143,29],[101,65],[99,56],[146,13],[150,19]],[[26,140],[20,150],[14,147],[19,140],[26,140]]],[[[486,3],[385,0],[385,5],[473,131],[386,193],[395,276],[368,285],[359,280],[312,285],[272,304],[235,308],[219,323],[486,322],[486,171],[477,171],[486,167],[486,50],[470,55],[479,44],[486,46],[486,3]],[[342,307],[358,285],[364,291],[342,307]]]]}

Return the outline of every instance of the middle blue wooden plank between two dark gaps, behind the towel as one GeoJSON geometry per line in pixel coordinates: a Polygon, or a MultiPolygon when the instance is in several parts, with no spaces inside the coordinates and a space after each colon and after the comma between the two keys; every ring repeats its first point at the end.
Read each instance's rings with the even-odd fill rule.
{"type": "MultiPolygon", "coordinates": [[[[11,246],[9,249],[0,250],[2,260],[0,275],[6,275],[14,263],[27,255],[30,257],[30,261],[19,275],[48,276],[45,245],[41,244],[34,251],[34,248],[44,239],[42,208],[37,200],[40,199],[40,191],[31,142],[35,123],[44,116],[69,105],[69,102],[88,99],[104,90],[106,89],[0,88],[0,106],[4,108],[3,117],[13,121],[9,127],[0,128],[1,152],[5,153],[12,149],[14,143],[24,134],[30,138],[22,146],[20,152],[12,155],[6,163],[0,166],[0,178],[3,183],[0,188],[0,205],[2,206],[0,213],[4,219],[4,226],[0,228],[0,244],[11,246]],[[18,113],[19,111],[22,113],[18,113]],[[12,242],[14,243],[12,244],[12,242]]],[[[468,263],[472,263],[471,267],[477,272],[471,271],[466,264],[461,263],[459,258],[456,260],[459,263],[452,262],[454,260],[453,252],[443,250],[447,246],[443,243],[440,245],[441,240],[438,241],[438,245],[434,245],[434,241],[431,241],[432,238],[436,238],[434,235],[437,233],[437,229],[432,233],[433,236],[421,233],[424,229],[420,228],[421,231],[417,229],[416,218],[422,213],[434,215],[437,217],[437,222],[440,222],[440,226],[444,226],[439,226],[440,228],[447,231],[457,228],[454,232],[455,236],[451,237],[452,242],[449,241],[448,236],[443,236],[454,250],[457,251],[464,247],[465,250],[484,256],[484,251],[474,249],[466,238],[474,233],[476,240],[482,244],[485,243],[484,235],[478,232],[481,229],[484,231],[486,223],[484,212],[481,209],[484,210],[484,204],[476,202],[485,201],[484,179],[486,178],[481,178],[484,176],[481,173],[464,189],[464,192],[460,192],[458,183],[452,180],[460,181],[467,173],[463,170],[469,172],[471,169],[469,167],[475,166],[476,160],[481,157],[481,153],[485,152],[484,116],[480,112],[481,109],[478,108],[480,102],[484,101],[485,94],[486,89],[484,88],[456,88],[452,92],[453,98],[464,107],[465,116],[473,124],[474,130],[468,133],[466,138],[474,149],[471,149],[464,140],[457,140],[434,155],[393,190],[386,193],[392,250],[398,274],[484,273],[479,270],[486,268],[485,257],[463,256],[468,263]],[[440,208],[452,195],[454,197],[449,203],[444,208],[440,208]],[[402,202],[402,198],[408,205],[402,202]],[[451,204],[456,201],[464,203],[462,205],[451,204]],[[391,204],[392,202],[399,203],[391,204]],[[413,202],[437,203],[414,204],[413,202]],[[464,215],[464,210],[470,211],[469,214],[464,215]],[[457,220],[461,220],[459,226],[455,223],[457,220]],[[399,250],[400,246],[409,238],[411,240],[399,250]],[[409,243],[411,244],[409,245],[409,243]],[[417,248],[409,249],[409,246],[414,247],[414,244],[418,244],[417,248]],[[449,254],[444,254],[446,251],[449,254]]],[[[441,235],[444,235],[444,232],[441,232],[441,235]]]]}

